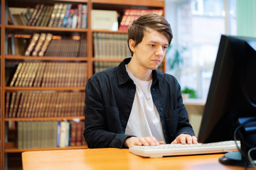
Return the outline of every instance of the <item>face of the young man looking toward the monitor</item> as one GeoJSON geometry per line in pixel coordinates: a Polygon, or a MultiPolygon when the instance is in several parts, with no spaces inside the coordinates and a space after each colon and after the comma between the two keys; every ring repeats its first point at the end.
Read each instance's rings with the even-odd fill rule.
{"type": "MultiPolygon", "coordinates": [[[[130,47],[133,43],[133,40],[129,43],[130,47]]],[[[169,42],[165,35],[146,28],[142,42],[131,48],[134,52],[132,57],[137,60],[137,67],[154,70],[164,60],[168,46],[169,42]]]]}

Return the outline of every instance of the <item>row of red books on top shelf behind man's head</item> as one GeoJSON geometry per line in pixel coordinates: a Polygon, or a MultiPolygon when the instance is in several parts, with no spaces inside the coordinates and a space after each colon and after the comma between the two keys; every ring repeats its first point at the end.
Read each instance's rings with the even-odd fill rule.
{"type": "Polygon", "coordinates": [[[122,16],[121,22],[119,23],[119,30],[128,30],[128,27],[132,21],[147,13],[156,13],[159,16],[163,16],[164,11],[162,9],[127,8],[124,10],[124,15],[122,16]]]}

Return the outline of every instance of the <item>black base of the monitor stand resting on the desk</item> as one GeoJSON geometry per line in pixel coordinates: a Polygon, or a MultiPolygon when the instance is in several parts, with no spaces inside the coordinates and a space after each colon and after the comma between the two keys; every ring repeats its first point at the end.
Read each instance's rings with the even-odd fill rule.
{"type": "Polygon", "coordinates": [[[240,152],[228,152],[223,157],[219,158],[219,162],[231,166],[252,167],[246,159],[244,159],[240,152]]]}

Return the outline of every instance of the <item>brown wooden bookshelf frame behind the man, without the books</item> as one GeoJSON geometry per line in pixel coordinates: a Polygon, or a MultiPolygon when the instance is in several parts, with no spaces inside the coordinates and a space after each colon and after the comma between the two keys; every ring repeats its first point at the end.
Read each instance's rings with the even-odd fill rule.
{"type": "MultiPolygon", "coordinates": [[[[17,149],[16,143],[14,141],[8,141],[8,127],[9,123],[16,123],[20,121],[38,121],[38,120],[68,120],[71,121],[73,119],[83,120],[84,116],[65,116],[65,117],[48,117],[48,118],[5,118],[5,106],[6,106],[6,92],[12,93],[17,91],[69,91],[70,93],[73,91],[85,91],[85,86],[71,86],[71,87],[28,87],[28,86],[9,86],[8,79],[12,75],[9,75],[9,69],[13,69],[14,65],[17,65],[20,62],[84,62],[87,63],[87,79],[95,73],[95,63],[96,62],[122,62],[122,59],[114,59],[114,58],[95,58],[94,56],[94,47],[93,47],[93,33],[114,33],[114,34],[125,34],[126,30],[95,30],[92,29],[92,21],[91,21],[91,11],[93,9],[100,10],[113,10],[117,11],[120,16],[123,15],[124,10],[127,8],[139,8],[139,9],[161,9],[165,10],[164,6],[165,2],[160,0],[1,0],[1,84],[0,84],[0,102],[1,102],[1,168],[0,169],[8,169],[9,164],[6,164],[6,160],[8,159],[8,153],[21,153],[25,151],[33,151],[33,150],[51,150],[51,149],[84,149],[87,146],[75,146],[75,147],[50,147],[50,148],[37,148],[37,149],[17,149]],[[46,4],[51,5],[56,3],[65,3],[65,4],[73,4],[73,8],[76,8],[78,4],[87,4],[87,28],[52,28],[47,26],[14,26],[7,23],[7,8],[15,7],[15,8],[35,8],[36,4],[46,4]],[[87,52],[85,56],[82,57],[32,57],[32,56],[24,56],[22,54],[9,54],[8,52],[8,38],[10,38],[11,34],[14,35],[32,35],[33,33],[52,33],[56,36],[79,36],[80,38],[85,38],[87,43],[85,44],[85,48],[87,52]],[[7,142],[5,142],[7,141],[7,142]]],[[[33,10],[32,10],[33,11],[33,10]]],[[[119,18],[120,20],[120,18],[119,18]]],[[[165,63],[165,60],[164,60],[165,63]]],[[[15,67],[14,67],[15,68],[15,67]]],[[[163,64],[163,70],[165,71],[165,64],[163,64]]],[[[14,70],[15,71],[15,70],[14,70]]],[[[14,130],[15,132],[15,130],[14,130]]],[[[14,135],[15,137],[15,135],[14,135]]],[[[21,167],[18,167],[21,169],[21,167]]]]}

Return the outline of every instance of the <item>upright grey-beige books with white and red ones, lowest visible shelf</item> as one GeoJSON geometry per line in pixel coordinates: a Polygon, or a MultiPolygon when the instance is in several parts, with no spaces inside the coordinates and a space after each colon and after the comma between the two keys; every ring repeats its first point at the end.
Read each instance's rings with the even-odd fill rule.
{"type": "Polygon", "coordinates": [[[86,145],[82,121],[19,121],[17,127],[18,149],[86,145]]]}

